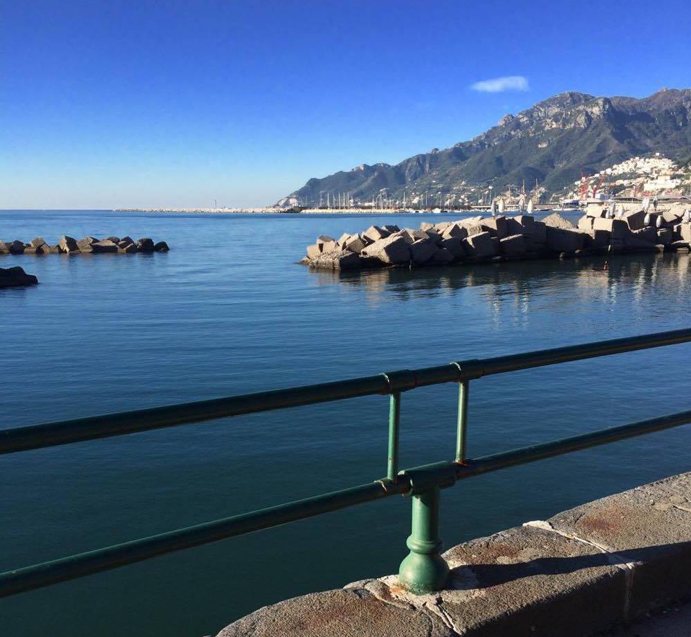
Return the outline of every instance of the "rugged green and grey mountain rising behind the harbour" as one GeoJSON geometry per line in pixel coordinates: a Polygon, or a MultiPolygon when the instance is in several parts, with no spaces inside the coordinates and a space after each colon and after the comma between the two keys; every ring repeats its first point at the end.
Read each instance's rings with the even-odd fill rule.
{"type": "MultiPolygon", "coordinates": [[[[492,185],[527,187],[535,180],[546,194],[613,163],[660,152],[686,163],[691,158],[691,89],[663,89],[648,98],[598,98],[567,92],[538,102],[467,142],[433,149],[396,165],[362,164],[323,178],[311,178],[289,198],[319,203],[320,192],[350,193],[369,202],[380,192],[407,201],[429,192],[452,191],[471,196],[471,189],[492,185]],[[385,189],[383,191],[383,189],[385,189]]],[[[477,201],[477,191],[472,195],[477,201]]],[[[431,199],[430,199],[431,201],[431,199]]]]}

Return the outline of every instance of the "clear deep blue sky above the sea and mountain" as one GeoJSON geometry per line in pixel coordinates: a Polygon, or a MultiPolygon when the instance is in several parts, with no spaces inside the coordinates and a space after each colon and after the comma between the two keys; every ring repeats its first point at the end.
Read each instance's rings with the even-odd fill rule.
{"type": "Polygon", "coordinates": [[[690,5],[0,0],[0,208],[264,205],[561,91],[687,88],[690,5]]]}

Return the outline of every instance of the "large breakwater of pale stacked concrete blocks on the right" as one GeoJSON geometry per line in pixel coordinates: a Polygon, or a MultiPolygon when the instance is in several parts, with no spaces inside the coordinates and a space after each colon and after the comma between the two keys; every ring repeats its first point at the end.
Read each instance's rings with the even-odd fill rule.
{"type": "Polygon", "coordinates": [[[597,205],[586,210],[578,225],[557,213],[540,220],[527,214],[473,216],[425,222],[414,230],[372,225],[339,239],[317,237],[300,263],[324,270],[425,267],[609,252],[689,252],[690,243],[691,223],[682,210],[620,210],[609,218],[607,209],[597,205]]]}

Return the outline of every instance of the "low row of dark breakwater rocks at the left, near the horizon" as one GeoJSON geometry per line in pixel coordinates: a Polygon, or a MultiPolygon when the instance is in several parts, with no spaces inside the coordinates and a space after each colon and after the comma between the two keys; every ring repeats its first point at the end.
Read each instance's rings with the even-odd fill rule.
{"type": "Polygon", "coordinates": [[[131,237],[84,237],[73,239],[64,234],[55,246],[46,243],[43,237],[37,237],[24,243],[24,241],[0,241],[0,254],[10,255],[91,255],[104,252],[117,254],[130,254],[132,252],[167,252],[168,244],[165,241],[154,243],[153,239],[142,237],[135,241],[131,237]]]}

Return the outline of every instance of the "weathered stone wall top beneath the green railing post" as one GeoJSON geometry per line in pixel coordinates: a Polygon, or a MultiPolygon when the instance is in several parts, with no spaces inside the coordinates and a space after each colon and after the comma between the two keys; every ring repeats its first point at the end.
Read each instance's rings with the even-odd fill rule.
{"type": "Polygon", "coordinates": [[[363,580],[259,609],[219,637],[592,635],[691,593],[690,499],[681,474],[454,546],[439,593],[363,580]]]}

